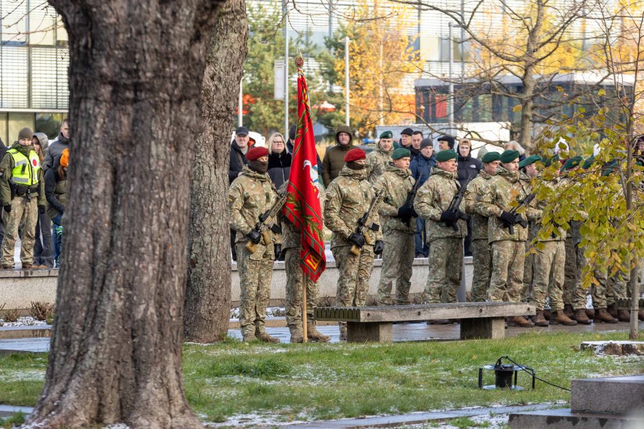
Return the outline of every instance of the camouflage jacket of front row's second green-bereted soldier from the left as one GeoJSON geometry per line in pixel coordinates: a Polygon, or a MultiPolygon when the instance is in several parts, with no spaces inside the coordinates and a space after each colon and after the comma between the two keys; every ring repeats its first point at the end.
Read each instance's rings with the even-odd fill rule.
{"type": "MultiPolygon", "coordinates": [[[[450,173],[439,168],[432,168],[430,178],[423,183],[416,194],[414,209],[418,216],[425,219],[425,231],[427,242],[433,242],[440,238],[460,238],[467,235],[467,222],[459,219],[456,222],[458,231],[454,231],[450,225],[441,222],[441,213],[449,209],[451,200],[458,192],[460,184],[456,180],[456,172],[450,173]]],[[[464,209],[465,198],[459,209],[464,209]]]]}

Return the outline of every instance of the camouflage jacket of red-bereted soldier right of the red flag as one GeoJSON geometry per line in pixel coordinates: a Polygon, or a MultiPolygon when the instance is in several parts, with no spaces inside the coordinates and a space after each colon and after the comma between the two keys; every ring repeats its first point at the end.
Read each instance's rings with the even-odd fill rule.
{"type": "MultiPolygon", "coordinates": [[[[367,181],[367,168],[351,170],[344,166],[340,175],[327,187],[324,200],[324,223],[333,234],[331,248],[350,246],[349,235],[358,228],[358,219],[369,210],[374,196],[373,186],[367,181]]],[[[380,224],[374,213],[373,222],[380,224]]],[[[380,231],[367,233],[372,243],[382,240],[380,231]]]]}

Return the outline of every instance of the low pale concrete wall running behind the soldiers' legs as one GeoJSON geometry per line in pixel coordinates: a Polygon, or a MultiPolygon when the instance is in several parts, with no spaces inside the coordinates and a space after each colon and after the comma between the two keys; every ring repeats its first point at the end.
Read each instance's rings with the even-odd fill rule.
{"type": "MultiPolygon", "coordinates": [[[[427,283],[429,262],[427,258],[414,259],[412,274],[411,294],[421,294],[427,283]]],[[[382,259],[373,262],[373,272],[369,279],[369,296],[377,293],[382,259]]],[[[472,258],[465,258],[465,287],[469,291],[472,285],[472,258]]],[[[54,302],[56,298],[56,285],[58,283],[58,270],[4,270],[0,271],[0,305],[5,303],[5,310],[28,309],[30,302],[54,302]]],[[[319,280],[319,297],[330,298],[336,296],[338,284],[338,269],[334,261],[327,263],[327,269],[319,280]]],[[[237,264],[232,264],[231,281],[232,306],[239,305],[240,287],[237,264]]],[[[271,280],[271,306],[284,305],[286,295],[286,271],[284,262],[275,262],[273,278],[271,280]]]]}

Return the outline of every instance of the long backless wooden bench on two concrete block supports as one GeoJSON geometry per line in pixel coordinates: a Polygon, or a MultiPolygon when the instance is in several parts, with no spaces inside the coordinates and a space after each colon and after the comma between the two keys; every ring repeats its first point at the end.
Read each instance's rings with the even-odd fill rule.
{"type": "Polygon", "coordinates": [[[388,305],[383,307],[316,307],[315,320],[347,322],[347,341],[390,343],[393,322],[460,319],[460,338],[505,337],[505,318],[532,316],[528,302],[458,302],[454,304],[388,305]]]}

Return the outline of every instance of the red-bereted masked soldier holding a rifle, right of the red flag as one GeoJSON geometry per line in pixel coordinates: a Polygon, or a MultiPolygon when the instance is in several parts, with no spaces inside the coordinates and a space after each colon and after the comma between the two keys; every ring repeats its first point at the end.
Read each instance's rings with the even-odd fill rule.
{"type": "MultiPolygon", "coordinates": [[[[364,235],[356,232],[358,220],[369,210],[375,194],[373,186],[367,181],[366,157],[359,148],[347,152],[345,166],[327,187],[324,203],[324,223],[333,233],[331,251],[340,272],[336,296],[340,307],[364,306],[373,257],[382,254],[384,248],[377,211],[371,217],[371,222],[375,224],[373,228],[364,235]],[[351,252],[353,245],[360,248],[360,255],[351,252]]],[[[345,322],[340,322],[340,339],[347,339],[345,322]]]]}

